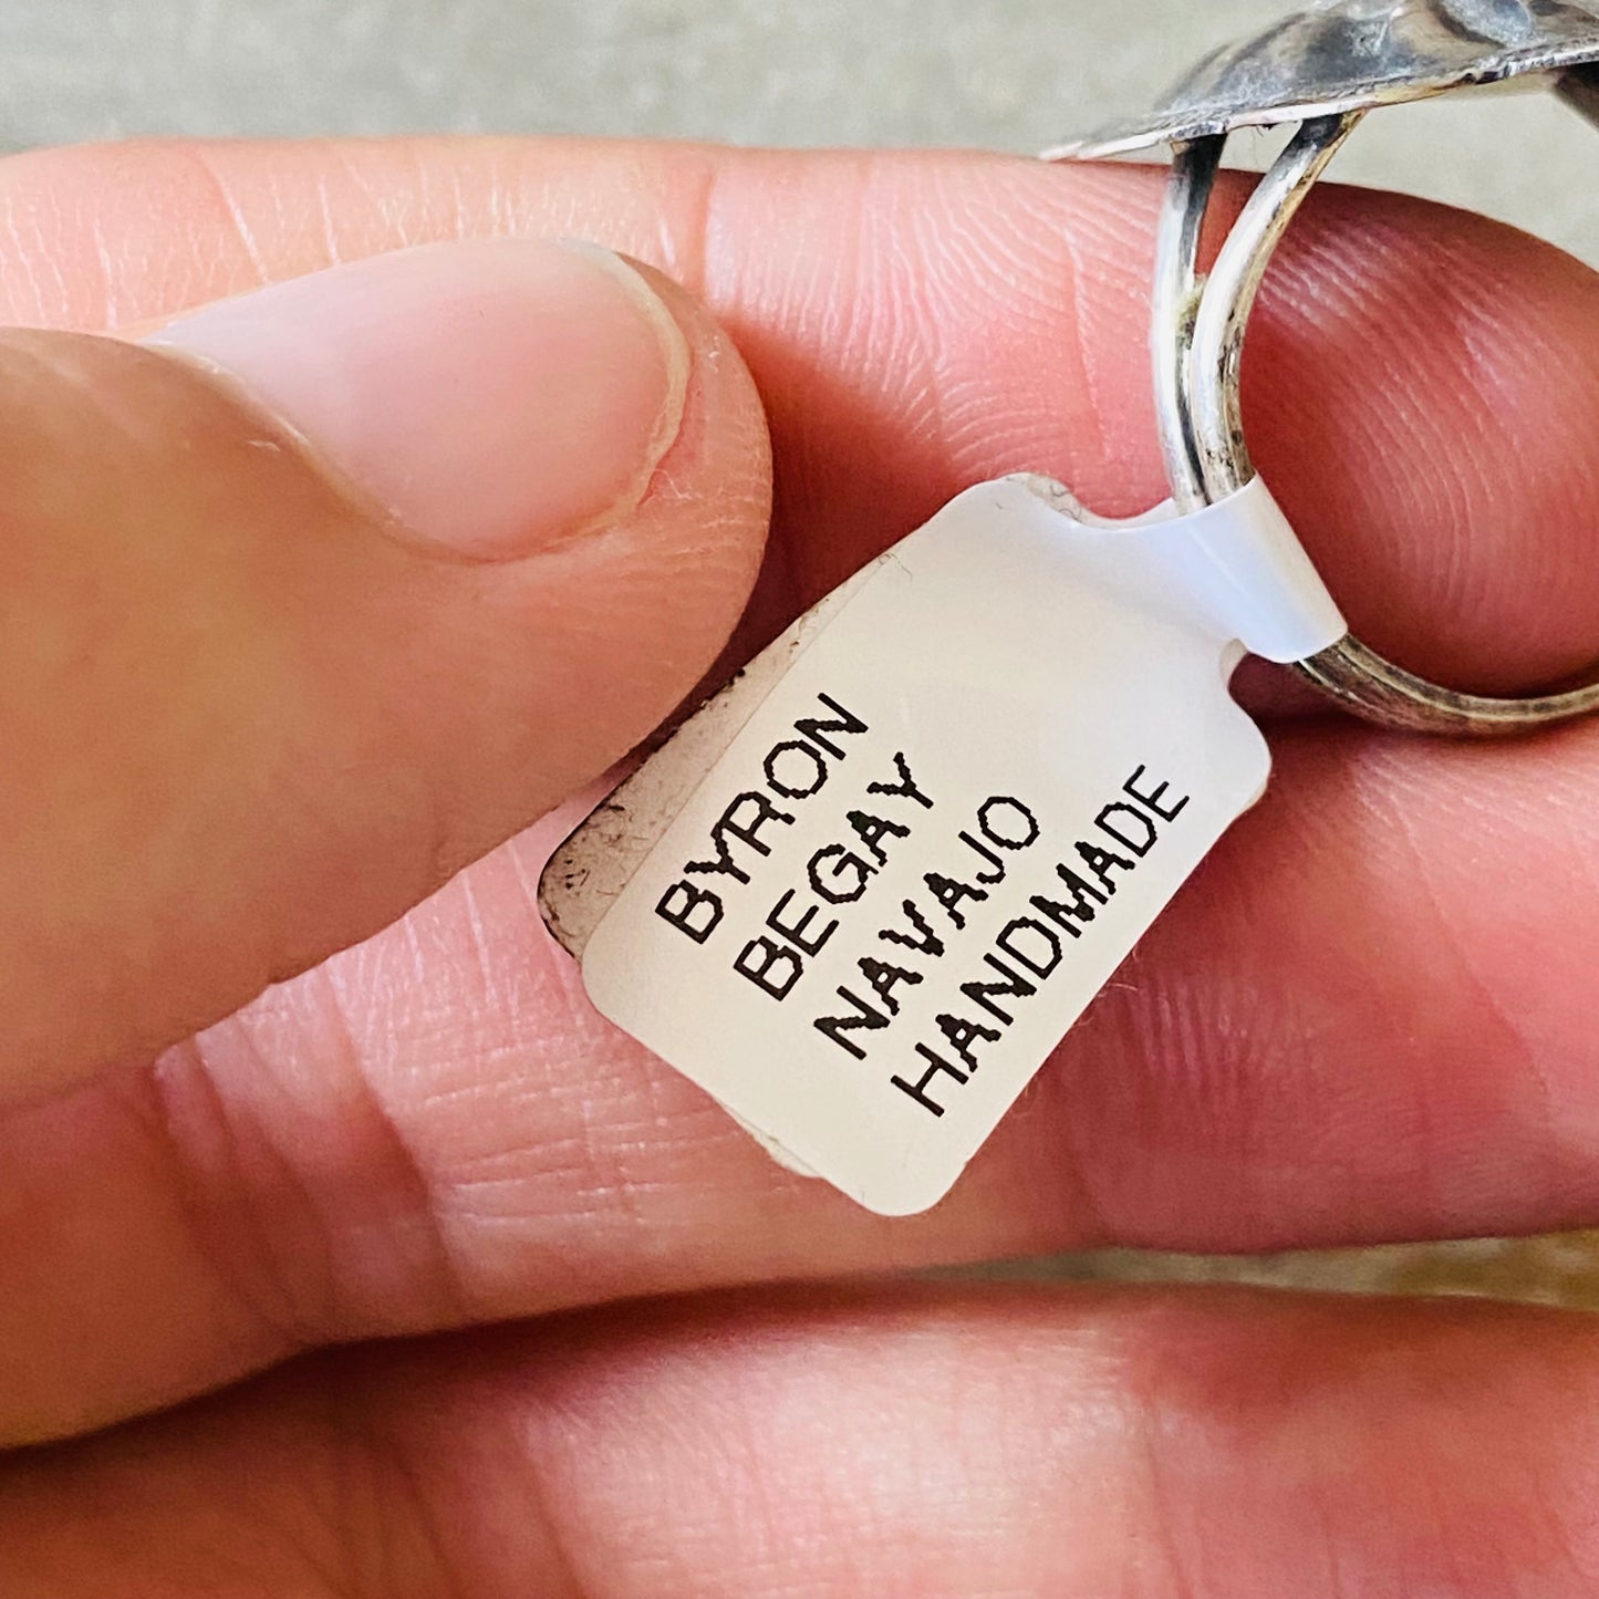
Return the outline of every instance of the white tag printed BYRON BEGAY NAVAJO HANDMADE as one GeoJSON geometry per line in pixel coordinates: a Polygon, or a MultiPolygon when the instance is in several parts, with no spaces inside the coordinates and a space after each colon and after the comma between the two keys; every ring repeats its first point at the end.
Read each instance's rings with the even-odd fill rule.
{"type": "Polygon", "coordinates": [[[924,1210],[1263,793],[1239,640],[1342,632],[1263,489],[1110,524],[983,484],[624,784],[545,915],[595,1006],[779,1159],[924,1210]]]}

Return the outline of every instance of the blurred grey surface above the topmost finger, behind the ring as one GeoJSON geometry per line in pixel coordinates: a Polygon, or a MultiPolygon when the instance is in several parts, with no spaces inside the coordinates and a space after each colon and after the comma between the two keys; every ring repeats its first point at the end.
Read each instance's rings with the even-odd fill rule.
{"type": "MultiPolygon", "coordinates": [[[[131,133],[649,133],[1035,150],[1279,0],[0,0],[0,147],[131,133]]],[[[1340,176],[1599,261],[1546,96],[1388,112],[1340,176]]],[[[1588,213],[1594,214],[1589,216],[1588,213]]]]}

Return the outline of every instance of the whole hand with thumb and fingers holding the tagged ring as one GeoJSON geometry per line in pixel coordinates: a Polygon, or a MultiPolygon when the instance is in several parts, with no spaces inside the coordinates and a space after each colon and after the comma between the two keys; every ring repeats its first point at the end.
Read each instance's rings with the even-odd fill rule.
{"type": "MultiPolygon", "coordinates": [[[[747,652],[972,481],[1159,497],[1156,182],[0,168],[0,315],[130,334],[0,336],[0,1439],[46,1445],[0,1460],[0,1593],[1594,1591],[1585,1319],[870,1274],[1593,1220],[1599,729],[1279,705],[1266,804],[910,1223],[772,1167],[539,926],[563,822],[512,835],[692,689],[761,560],[760,406],[689,294],[772,424],[747,652]],[[489,235],[689,293],[534,243],[261,291],[489,235]]],[[[1492,689],[1591,660],[1583,267],[1318,197],[1247,401],[1372,644],[1492,689]]]]}

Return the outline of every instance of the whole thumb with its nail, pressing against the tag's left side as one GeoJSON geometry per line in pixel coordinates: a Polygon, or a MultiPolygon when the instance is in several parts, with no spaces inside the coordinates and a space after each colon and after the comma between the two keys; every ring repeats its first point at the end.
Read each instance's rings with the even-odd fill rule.
{"type": "Polygon", "coordinates": [[[588,246],[0,333],[0,1097],[225,1015],[604,771],[768,508],[723,334],[588,246]]]}

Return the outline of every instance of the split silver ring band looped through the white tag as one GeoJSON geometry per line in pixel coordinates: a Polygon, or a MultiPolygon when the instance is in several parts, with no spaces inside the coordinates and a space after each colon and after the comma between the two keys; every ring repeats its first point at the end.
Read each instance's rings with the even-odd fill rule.
{"type": "MultiPolygon", "coordinates": [[[[1430,16],[1439,0],[1398,0],[1391,10],[1409,16],[1418,3],[1430,16]]],[[[1374,10],[1370,0],[1364,5],[1366,13],[1374,10]]],[[[1353,6],[1354,0],[1346,0],[1345,6],[1324,6],[1322,11],[1353,6]]],[[[1589,122],[1599,123],[1599,86],[1591,72],[1569,70],[1556,86],[1589,122]]],[[[1380,102],[1366,90],[1354,104],[1334,104],[1327,115],[1279,117],[1297,122],[1297,133],[1260,179],[1204,277],[1199,272],[1202,225],[1228,134],[1246,123],[1236,115],[1230,122],[1217,118],[1218,131],[1183,136],[1174,118],[1174,126],[1164,130],[1174,149],[1174,168],[1156,249],[1153,357],[1166,470],[1180,510],[1226,499],[1255,477],[1239,401],[1250,312],[1271,257],[1305,197],[1366,112],[1380,102]]],[[[1270,120],[1265,115],[1250,118],[1255,123],[1270,120]]],[[[1143,128],[1135,133],[1137,141],[1126,139],[1126,147],[1148,142],[1143,128]]],[[[1051,152],[1052,157],[1097,154],[1115,152],[1107,152],[1105,141],[1051,152]]],[[[1409,732],[1505,737],[1599,712],[1599,683],[1525,699],[1465,694],[1406,672],[1353,636],[1294,670],[1351,713],[1409,732]]]]}

